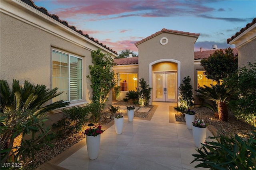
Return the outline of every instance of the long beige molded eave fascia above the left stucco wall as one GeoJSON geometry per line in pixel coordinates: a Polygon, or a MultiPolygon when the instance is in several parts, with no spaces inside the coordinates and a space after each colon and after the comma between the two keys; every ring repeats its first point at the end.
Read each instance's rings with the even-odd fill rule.
{"type": "Polygon", "coordinates": [[[32,8],[22,1],[1,1],[0,9],[1,12],[8,16],[16,18],[17,20],[27,23],[28,25],[42,29],[43,31],[60,37],[61,39],[69,41],[70,43],[78,45],[89,51],[94,51],[100,48],[105,53],[111,53],[113,57],[117,57],[115,53],[108,51],[96,42],[91,41],[90,39],[32,8]]]}

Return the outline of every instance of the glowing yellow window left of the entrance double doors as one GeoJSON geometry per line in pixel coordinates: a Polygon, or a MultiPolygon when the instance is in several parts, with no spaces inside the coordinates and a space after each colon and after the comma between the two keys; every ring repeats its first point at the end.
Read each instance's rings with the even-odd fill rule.
{"type": "Polygon", "coordinates": [[[136,90],[138,78],[137,73],[119,74],[121,91],[136,90]]]}

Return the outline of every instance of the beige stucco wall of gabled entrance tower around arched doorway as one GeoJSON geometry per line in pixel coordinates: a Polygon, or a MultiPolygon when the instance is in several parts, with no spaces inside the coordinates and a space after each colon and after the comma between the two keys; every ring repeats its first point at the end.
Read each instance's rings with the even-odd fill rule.
{"type": "MultiPolygon", "coordinates": [[[[149,64],[160,59],[180,61],[180,82],[186,76],[192,79],[194,88],[194,43],[196,37],[174,33],[161,33],[137,45],[139,49],[139,78],[149,83],[149,64]],[[160,39],[166,37],[168,43],[160,44],[160,39]]],[[[179,80],[178,80],[179,83],[179,80]]],[[[180,84],[178,84],[179,86],[180,84]]]]}

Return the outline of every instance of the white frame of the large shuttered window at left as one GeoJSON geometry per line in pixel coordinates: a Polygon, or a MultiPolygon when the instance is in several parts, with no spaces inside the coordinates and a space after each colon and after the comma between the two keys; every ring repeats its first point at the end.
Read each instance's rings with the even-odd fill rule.
{"type": "MultiPolygon", "coordinates": [[[[63,53],[65,55],[68,55],[68,101],[65,101],[65,102],[75,102],[75,101],[83,100],[83,98],[84,98],[84,95],[83,95],[84,94],[84,92],[83,92],[84,91],[84,88],[83,88],[83,69],[84,69],[83,58],[82,57],[78,57],[77,55],[74,55],[72,53],[68,53],[66,51],[61,51],[59,49],[52,49],[51,50],[51,56],[52,56],[52,52],[53,51],[56,51],[58,53],[63,53]],[[70,101],[70,56],[76,57],[76,58],[82,60],[82,96],[81,96],[81,99],[72,100],[72,101],[70,101]]],[[[53,73],[52,73],[52,57],[51,57],[51,80],[52,80],[52,75],[53,75],[53,73]]],[[[52,86],[52,83],[51,83],[51,86],[52,86]]],[[[53,88],[55,88],[55,87],[52,87],[52,89],[53,88]]]]}

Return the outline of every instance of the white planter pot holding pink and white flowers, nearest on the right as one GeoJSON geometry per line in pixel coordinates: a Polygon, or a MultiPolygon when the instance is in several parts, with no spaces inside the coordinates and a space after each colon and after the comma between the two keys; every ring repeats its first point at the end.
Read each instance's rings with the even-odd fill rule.
{"type": "Polygon", "coordinates": [[[201,148],[202,147],[201,143],[205,142],[206,130],[207,130],[206,127],[202,128],[202,127],[192,126],[193,139],[196,147],[201,148]]]}

